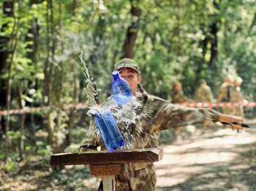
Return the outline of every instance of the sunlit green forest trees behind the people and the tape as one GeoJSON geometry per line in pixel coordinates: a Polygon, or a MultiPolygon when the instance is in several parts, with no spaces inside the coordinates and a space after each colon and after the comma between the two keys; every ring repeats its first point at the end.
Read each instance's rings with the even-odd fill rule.
{"type": "MultiPolygon", "coordinates": [[[[256,100],[255,0],[26,0],[0,2],[0,171],[20,163],[48,164],[50,155],[76,148],[92,119],[85,103],[83,51],[99,102],[110,95],[113,65],[120,58],[140,64],[143,87],[168,99],[180,81],[189,98],[200,79],[217,97],[227,74],[244,81],[256,100]]],[[[217,108],[218,110],[218,108],[217,108]]],[[[253,117],[255,109],[246,109],[253,117]]],[[[0,182],[1,183],[1,182],[0,182]]]]}

